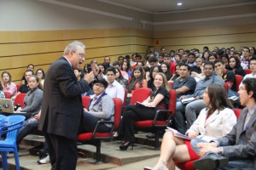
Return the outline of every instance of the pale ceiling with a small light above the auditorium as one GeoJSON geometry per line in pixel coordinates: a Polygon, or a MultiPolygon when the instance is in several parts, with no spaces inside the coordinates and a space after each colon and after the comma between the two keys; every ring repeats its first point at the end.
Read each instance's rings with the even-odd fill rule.
{"type": "Polygon", "coordinates": [[[153,14],[175,12],[180,10],[196,10],[201,8],[221,8],[239,6],[244,3],[255,3],[255,0],[98,0],[119,7],[153,14]],[[177,6],[177,3],[183,3],[177,6]]]}

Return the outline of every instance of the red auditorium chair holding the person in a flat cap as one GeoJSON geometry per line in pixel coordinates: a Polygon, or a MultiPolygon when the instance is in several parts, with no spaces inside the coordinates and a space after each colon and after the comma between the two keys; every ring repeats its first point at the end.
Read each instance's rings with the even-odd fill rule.
{"type": "MultiPolygon", "coordinates": [[[[88,108],[90,97],[84,96],[82,98],[83,105],[85,108],[88,108]]],[[[113,130],[117,130],[119,128],[119,122],[121,117],[121,111],[122,111],[122,100],[121,99],[113,99],[114,103],[114,115],[113,115],[113,122],[110,121],[99,121],[96,124],[96,127],[94,129],[93,133],[80,133],[77,137],[78,141],[82,144],[93,144],[96,146],[96,163],[101,162],[101,144],[102,139],[110,139],[113,133],[113,130]],[[113,124],[113,128],[109,133],[97,133],[97,127],[99,124],[102,123],[110,123],[113,124]]]]}

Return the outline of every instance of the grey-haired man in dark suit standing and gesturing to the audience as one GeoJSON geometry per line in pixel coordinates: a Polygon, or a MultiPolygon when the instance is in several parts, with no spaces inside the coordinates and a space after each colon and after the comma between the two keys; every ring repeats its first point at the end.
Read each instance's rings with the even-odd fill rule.
{"type": "Polygon", "coordinates": [[[85,59],[84,44],[71,42],[64,54],[50,65],[44,80],[44,98],[38,129],[49,144],[52,170],[75,170],[77,134],[83,114],[81,94],[90,90],[94,75],[91,71],[77,81],[74,69],[85,59]]]}

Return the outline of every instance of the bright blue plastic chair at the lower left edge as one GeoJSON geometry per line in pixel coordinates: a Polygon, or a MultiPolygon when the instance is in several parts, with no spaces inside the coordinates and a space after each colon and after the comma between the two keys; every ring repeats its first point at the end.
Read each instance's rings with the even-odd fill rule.
{"type": "Polygon", "coordinates": [[[20,161],[16,144],[17,134],[24,124],[25,116],[7,116],[0,127],[0,136],[6,134],[6,138],[0,140],[0,151],[2,153],[3,170],[7,170],[7,152],[13,151],[15,154],[16,169],[20,170],[20,161]]]}

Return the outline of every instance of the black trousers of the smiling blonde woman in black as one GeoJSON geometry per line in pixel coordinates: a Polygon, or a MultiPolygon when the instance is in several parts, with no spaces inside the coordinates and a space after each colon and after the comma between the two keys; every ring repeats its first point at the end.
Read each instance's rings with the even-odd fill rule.
{"type": "Polygon", "coordinates": [[[120,122],[118,133],[124,136],[125,141],[135,141],[134,122],[153,120],[156,109],[138,105],[126,105],[123,118],[120,122]]]}

